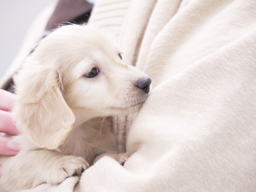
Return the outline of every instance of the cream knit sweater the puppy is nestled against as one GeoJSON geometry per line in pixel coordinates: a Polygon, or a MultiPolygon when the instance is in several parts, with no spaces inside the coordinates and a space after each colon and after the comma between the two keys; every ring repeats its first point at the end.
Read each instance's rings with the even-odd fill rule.
{"type": "Polygon", "coordinates": [[[256,1],[98,0],[90,24],[153,81],[134,154],[26,192],[255,191],[256,1]]]}

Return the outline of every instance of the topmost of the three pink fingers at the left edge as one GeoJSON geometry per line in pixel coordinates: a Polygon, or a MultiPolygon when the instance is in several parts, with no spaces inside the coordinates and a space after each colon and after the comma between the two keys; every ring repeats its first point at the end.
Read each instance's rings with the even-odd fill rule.
{"type": "Polygon", "coordinates": [[[0,89],[0,109],[3,111],[11,111],[14,106],[16,95],[0,89]]]}

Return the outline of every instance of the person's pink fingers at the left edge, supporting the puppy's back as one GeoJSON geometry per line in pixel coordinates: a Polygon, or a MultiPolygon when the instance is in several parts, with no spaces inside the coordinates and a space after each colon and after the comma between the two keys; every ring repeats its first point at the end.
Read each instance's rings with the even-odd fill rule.
{"type": "MultiPolygon", "coordinates": [[[[9,135],[19,134],[10,113],[14,102],[15,94],[0,89],[0,132],[9,135]]],[[[0,155],[15,155],[19,150],[19,145],[12,140],[11,136],[0,135],[0,155]]]]}

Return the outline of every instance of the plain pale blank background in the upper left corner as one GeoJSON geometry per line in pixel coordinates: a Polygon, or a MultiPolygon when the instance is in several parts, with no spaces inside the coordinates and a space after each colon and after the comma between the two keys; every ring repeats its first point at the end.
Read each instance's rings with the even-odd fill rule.
{"type": "Polygon", "coordinates": [[[18,53],[36,15],[54,0],[0,1],[0,77],[18,53]]]}

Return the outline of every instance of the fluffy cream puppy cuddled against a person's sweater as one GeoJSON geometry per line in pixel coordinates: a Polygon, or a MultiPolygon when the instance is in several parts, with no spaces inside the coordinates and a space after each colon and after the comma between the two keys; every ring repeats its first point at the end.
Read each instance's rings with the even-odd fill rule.
{"type": "MultiPolygon", "coordinates": [[[[81,174],[96,156],[116,153],[113,133],[104,122],[95,126],[90,120],[137,111],[151,83],[124,63],[105,34],[79,25],[42,39],[14,80],[21,151],[1,158],[5,191],[61,183],[81,174]]],[[[113,157],[123,163],[128,156],[113,157]]]]}

